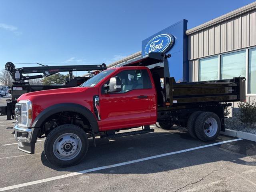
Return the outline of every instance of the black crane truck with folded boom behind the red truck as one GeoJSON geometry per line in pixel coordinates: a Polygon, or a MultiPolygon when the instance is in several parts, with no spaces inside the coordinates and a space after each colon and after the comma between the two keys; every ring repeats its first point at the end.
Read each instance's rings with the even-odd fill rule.
{"type": "MultiPolygon", "coordinates": [[[[38,63],[39,64],[39,63],[38,63]]],[[[17,99],[24,93],[57,89],[57,88],[68,88],[75,87],[86,80],[89,77],[76,77],[73,79],[73,71],[103,71],[107,69],[106,64],[88,64],[88,65],[64,65],[64,66],[34,66],[34,67],[22,67],[16,68],[12,62],[5,64],[5,70],[10,72],[12,79],[14,80],[12,85],[12,99],[7,99],[6,106],[0,107],[0,116],[7,115],[7,120],[14,118],[14,109],[17,99]],[[37,79],[42,77],[48,77],[58,72],[69,72],[69,79],[65,80],[62,85],[30,85],[26,80],[37,79]],[[41,74],[40,74],[41,73],[41,74]],[[26,74],[26,75],[25,75],[26,74]],[[27,74],[40,74],[28,76],[27,74]]],[[[93,73],[95,74],[95,73],[93,73]]]]}

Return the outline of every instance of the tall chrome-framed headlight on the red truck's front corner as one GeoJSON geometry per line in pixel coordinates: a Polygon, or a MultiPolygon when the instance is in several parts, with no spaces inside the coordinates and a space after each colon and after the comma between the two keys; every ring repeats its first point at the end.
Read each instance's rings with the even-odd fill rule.
{"type": "Polygon", "coordinates": [[[30,126],[32,120],[32,104],[30,100],[20,100],[16,103],[15,119],[18,122],[18,126],[30,126]]]}

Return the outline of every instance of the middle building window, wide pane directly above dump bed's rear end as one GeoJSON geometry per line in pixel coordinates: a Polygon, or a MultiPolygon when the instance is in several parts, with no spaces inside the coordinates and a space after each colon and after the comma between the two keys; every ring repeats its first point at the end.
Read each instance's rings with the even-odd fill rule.
{"type": "Polygon", "coordinates": [[[246,76],[246,50],[220,56],[220,79],[246,76]]]}

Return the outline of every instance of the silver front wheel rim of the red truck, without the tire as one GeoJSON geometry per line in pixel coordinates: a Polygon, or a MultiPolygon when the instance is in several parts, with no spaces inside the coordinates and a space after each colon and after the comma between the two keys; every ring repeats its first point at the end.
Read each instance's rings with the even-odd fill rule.
{"type": "Polygon", "coordinates": [[[82,141],[76,134],[65,133],[54,141],[52,150],[56,158],[68,161],[78,156],[81,148],[82,141]]]}

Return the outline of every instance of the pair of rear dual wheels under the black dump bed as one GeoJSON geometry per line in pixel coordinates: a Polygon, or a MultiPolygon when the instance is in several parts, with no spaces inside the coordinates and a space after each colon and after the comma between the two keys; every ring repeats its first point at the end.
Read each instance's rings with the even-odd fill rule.
{"type": "Polygon", "coordinates": [[[197,111],[188,119],[188,133],[202,141],[215,140],[220,134],[221,122],[213,112],[197,111]]]}

